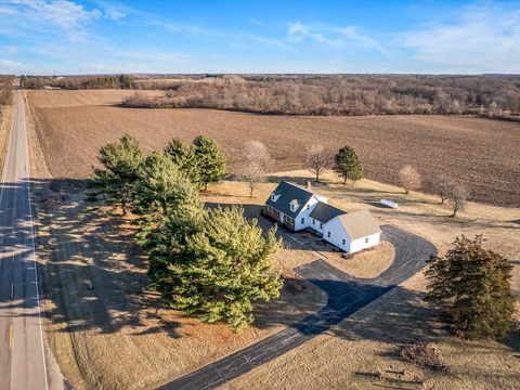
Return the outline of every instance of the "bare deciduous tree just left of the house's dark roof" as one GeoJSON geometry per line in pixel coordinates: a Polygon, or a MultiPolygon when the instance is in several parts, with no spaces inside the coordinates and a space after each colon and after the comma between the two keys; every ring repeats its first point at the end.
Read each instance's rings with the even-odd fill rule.
{"type": "Polygon", "coordinates": [[[240,170],[240,178],[249,185],[249,196],[252,197],[255,190],[265,179],[271,155],[262,142],[249,141],[245,144],[244,157],[246,161],[240,170]]]}

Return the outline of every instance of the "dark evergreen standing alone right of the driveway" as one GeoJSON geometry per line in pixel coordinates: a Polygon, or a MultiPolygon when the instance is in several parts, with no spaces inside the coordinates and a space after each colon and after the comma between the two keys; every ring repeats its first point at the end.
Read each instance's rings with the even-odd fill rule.
{"type": "Polygon", "coordinates": [[[453,326],[465,338],[504,337],[512,323],[512,265],[482,248],[483,238],[456,238],[445,257],[428,262],[426,299],[451,308],[453,326]]]}

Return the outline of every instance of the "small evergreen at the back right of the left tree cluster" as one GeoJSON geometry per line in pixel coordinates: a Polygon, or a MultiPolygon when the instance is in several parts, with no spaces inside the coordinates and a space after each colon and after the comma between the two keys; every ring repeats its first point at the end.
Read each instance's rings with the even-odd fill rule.
{"type": "Polygon", "coordinates": [[[225,156],[219,145],[205,135],[198,135],[193,141],[193,145],[200,183],[207,191],[208,183],[217,183],[225,178],[225,156]]]}

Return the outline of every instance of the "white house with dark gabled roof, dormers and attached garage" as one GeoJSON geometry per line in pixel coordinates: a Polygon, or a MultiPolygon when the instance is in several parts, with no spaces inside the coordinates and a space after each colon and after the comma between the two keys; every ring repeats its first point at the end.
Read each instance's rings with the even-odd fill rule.
{"type": "Polygon", "coordinates": [[[379,244],[381,230],[366,209],[344,212],[327,197],[282,181],[265,202],[266,213],[290,231],[313,230],[337,248],[352,253],[379,244]]]}

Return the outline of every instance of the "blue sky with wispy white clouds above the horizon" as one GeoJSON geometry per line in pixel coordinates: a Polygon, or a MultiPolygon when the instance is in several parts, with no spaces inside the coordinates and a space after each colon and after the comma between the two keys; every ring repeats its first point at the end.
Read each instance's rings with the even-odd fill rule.
{"type": "Polygon", "coordinates": [[[520,1],[0,0],[0,74],[520,72],[520,1]]]}

